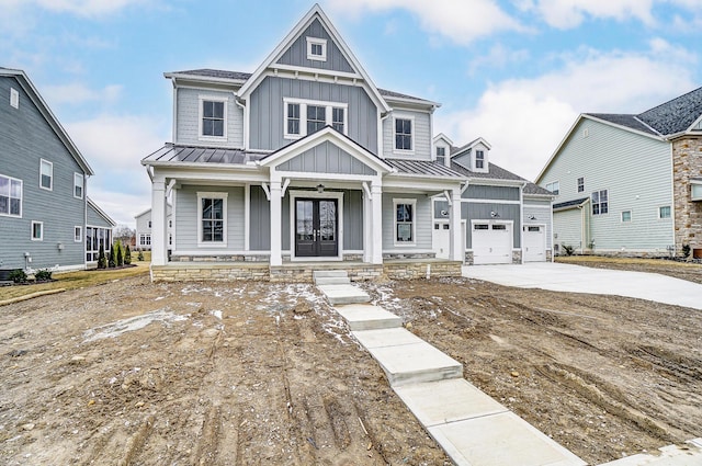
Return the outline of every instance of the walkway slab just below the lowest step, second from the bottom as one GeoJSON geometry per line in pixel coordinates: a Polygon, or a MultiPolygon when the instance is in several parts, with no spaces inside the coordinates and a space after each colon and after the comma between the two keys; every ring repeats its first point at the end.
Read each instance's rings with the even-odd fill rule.
{"type": "Polygon", "coordinates": [[[509,411],[464,378],[401,386],[395,393],[424,428],[509,411]]]}

